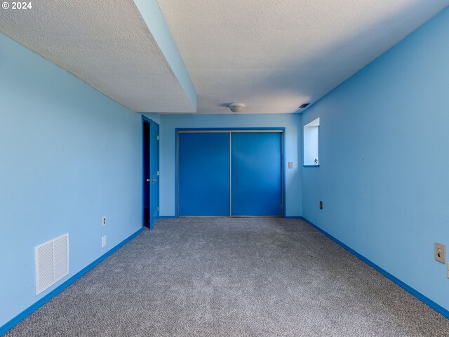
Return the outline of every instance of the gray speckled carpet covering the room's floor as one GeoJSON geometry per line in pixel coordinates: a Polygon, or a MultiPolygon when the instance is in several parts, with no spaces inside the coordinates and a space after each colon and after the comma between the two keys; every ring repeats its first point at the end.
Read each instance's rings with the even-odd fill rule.
{"type": "Polygon", "coordinates": [[[180,218],[6,336],[449,336],[449,321],[301,220],[180,218]]]}

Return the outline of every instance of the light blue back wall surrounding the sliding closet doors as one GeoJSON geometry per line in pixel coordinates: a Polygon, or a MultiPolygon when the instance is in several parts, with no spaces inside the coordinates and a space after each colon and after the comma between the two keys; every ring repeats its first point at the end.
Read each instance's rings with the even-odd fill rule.
{"type": "Polygon", "coordinates": [[[301,216],[300,114],[161,114],[161,216],[175,216],[175,128],[286,128],[286,216],[301,216]],[[286,164],[287,167],[287,164],[286,164]]]}

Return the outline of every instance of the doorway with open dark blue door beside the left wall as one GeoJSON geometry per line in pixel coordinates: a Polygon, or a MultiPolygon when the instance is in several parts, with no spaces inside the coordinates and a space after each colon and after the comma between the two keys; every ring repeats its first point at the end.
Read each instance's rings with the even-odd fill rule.
{"type": "Polygon", "coordinates": [[[142,218],[150,230],[159,218],[159,124],[142,116],[142,218]]]}

